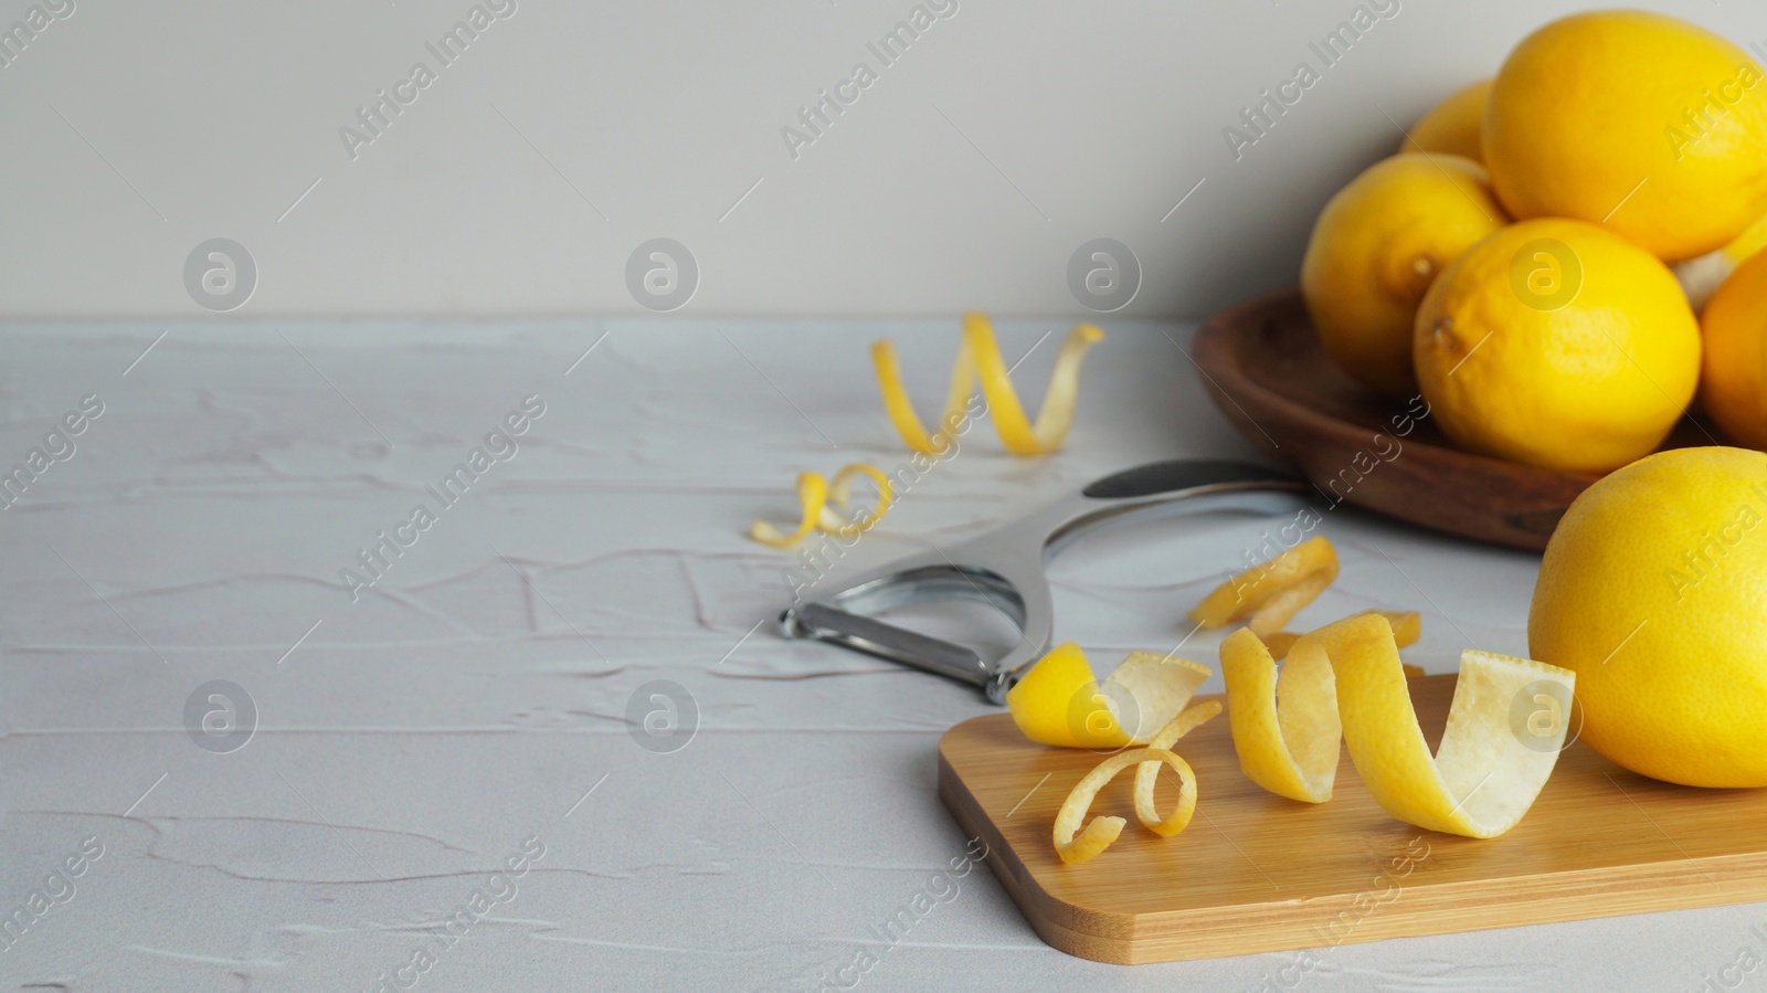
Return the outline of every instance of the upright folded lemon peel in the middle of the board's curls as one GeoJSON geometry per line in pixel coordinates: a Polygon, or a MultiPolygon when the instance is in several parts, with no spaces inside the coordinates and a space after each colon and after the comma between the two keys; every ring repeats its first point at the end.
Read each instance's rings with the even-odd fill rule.
{"type": "Polygon", "coordinates": [[[1221,641],[1233,751],[1248,779],[1265,790],[1323,804],[1338,779],[1338,686],[1331,661],[1302,638],[1283,663],[1249,629],[1221,641]]]}

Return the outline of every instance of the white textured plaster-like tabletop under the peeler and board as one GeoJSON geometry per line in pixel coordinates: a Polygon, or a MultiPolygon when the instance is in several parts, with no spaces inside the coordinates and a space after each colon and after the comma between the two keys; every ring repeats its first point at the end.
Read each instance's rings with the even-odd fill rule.
{"type": "MultiPolygon", "coordinates": [[[[1012,459],[982,424],[843,567],[1140,461],[1251,456],[1175,345],[1189,329],[1106,327],[1067,451],[1012,459]]],[[[1018,373],[1032,401],[1064,325],[1002,329],[1009,359],[1050,330],[1018,373]]],[[[905,461],[864,350],[878,334],[901,343],[912,389],[940,398],[956,322],[5,329],[0,466],[42,445],[64,461],[39,463],[0,512],[4,988],[1691,991],[1762,979],[1733,965],[1744,951],[1767,958],[1760,905],[1346,944],[1301,975],[1279,954],[1074,959],[1037,940],[988,871],[935,882],[965,850],[935,795],[935,746],[988,705],[776,638],[762,622],[788,599],[790,557],[744,537],[751,518],[792,516],[800,470],[905,461]],[[516,447],[489,442],[504,459],[438,505],[426,486],[530,396],[544,413],[518,417],[516,447]],[[83,398],[102,413],[74,449],[44,442],[83,398]],[[429,519],[408,527],[419,504],[429,519]],[[352,601],[339,572],[366,581],[359,551],[382,532],[410,546],[352,601]],[[226,701],[235,689],[198,694],[193,723],[207,714],[214,733],[187,731],[187,700],[210,680],[249,694],[244,747],[217,751],[239,740],[224,709],[247,717],[244,700],[226,701]],[[659,739],[627,717],[659,709],[648,691],[631,709],[656,680],[680,687],[682,721],[698,714],[673,753],[640,747],[659,739]],[[78,878],[64,880],[71,857],[78,878]],[[880,938],[922,891],[942,899],[894,944],[880,938]],[[875,965],[848,968],[866,952],[875,965]]],[[[1076,546],[1053,567],[1058,636],[1106,666],[1170,648],[1184,608],[1269,525],[1216,516],[1076,546]]],[[[1408,656],[1431,671],[1467,643],[1525,652],[1537,558],[1348,509],[1323,530],[1343,578],[1302,622],[1419,608],[1424,638],[1408,656]]],[[[1184,654],[1212,663],[1216,643],[1200,634],[1184,654]]]]}

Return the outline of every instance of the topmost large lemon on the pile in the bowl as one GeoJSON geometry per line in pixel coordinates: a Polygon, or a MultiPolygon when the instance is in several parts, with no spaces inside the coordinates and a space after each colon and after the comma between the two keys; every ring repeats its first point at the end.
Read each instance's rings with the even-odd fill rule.
{"type": "Polygon", "coordinates": [[[1516,217],[1610,226],[1659,258],[1719,249],[1767,212],[1767,74],[1663,14],[1553,21],[1504,60],[1484,164],[1516,217]]]}

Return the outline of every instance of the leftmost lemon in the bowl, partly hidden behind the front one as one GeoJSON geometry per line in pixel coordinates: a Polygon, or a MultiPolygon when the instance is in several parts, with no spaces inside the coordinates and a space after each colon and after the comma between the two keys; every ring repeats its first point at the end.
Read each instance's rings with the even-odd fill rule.
{"type": "Polygon", "coordinates": [[[1301,262],[1320,345],[1375,392],[1407,398],[1412,318],[1430,283],[1507,217],[1484,170],[1458,155],[1392,155],[1325,203],[1301,262]]]}

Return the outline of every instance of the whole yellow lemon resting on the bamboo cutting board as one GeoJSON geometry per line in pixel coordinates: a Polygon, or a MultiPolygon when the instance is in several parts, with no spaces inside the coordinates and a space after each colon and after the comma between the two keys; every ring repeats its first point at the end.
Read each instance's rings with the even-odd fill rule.
{"type": "Polygon", "coordinates": [[[1581,739],[1687,786],[1767,786],[1767,454],[1673,449],[1590,486],[1546,544],[1528,654],[1581,739]]]}

